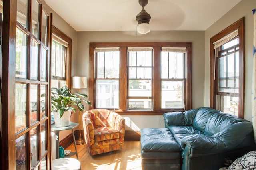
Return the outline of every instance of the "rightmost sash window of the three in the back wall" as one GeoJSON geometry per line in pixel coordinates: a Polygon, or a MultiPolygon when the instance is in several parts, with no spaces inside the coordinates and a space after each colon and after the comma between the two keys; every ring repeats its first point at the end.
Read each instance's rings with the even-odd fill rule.
{"type": "Polygon", "coordinates": [[[184,107],[186,48],[162,47],[161,52],[161,107],[184,107]]]}

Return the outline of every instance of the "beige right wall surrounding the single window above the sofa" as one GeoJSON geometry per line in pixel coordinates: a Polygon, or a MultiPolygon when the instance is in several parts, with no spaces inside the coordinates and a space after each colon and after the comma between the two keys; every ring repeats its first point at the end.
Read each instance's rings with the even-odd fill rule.
{"type": "Polygon", "coordinates": [[[245,17],[245,109],[244,118],[252,121],[251,88],[252,88],[252,57],[253,57],[253,14],[255,0],[242,0],[232,10],[215,22],[205,31],[205,74],[204,74],[204,105],[210,105],[210,38],[224,30],[237,20],[245,17]]]}

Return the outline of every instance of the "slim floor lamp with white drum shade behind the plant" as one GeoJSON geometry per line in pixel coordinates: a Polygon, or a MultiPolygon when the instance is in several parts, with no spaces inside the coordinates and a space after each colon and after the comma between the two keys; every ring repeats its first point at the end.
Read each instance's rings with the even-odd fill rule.
{"type": "MultiPolygon", "coordinates": [[[[73,77],[73,88],[78,89],[78,92],[81,92],[81,89],[87,88],[87,77],[73,77]]],[[[81,138],[81,111],[79,110],[79,138],[76,140],[76,144],[84,144],[84,140],[81,138]]]]}

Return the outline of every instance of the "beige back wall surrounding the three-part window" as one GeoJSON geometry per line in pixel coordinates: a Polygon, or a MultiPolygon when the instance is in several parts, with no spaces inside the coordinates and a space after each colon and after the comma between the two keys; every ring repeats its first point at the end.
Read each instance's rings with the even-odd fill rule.
{"type": "MultiPolygon", "coordinates": [[[[136,35],[136,31],[78,32],[76,73],[87,77],[89,77],[90,42],[192,42],[192,107],[204,106],[204,31],[151,31],[146,35],[136,35]]],[[[84,93],[88,94],[88,88],[84,89],[84,93]]],[[[162,116],[126,116],[125,118],[126,130],[164,127],[162,116]]]]}

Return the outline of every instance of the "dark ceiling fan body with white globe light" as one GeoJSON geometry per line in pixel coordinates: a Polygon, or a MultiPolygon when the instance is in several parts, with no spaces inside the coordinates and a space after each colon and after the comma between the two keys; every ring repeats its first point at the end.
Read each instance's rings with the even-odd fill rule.
{"type": "Polygon", "coordinates": [[[138,22],[137,32],[140,34],[147,34],[150,32],[150,19],[151,16],[144,10],[144,7],[148,4],[148,0],[139,0],[139,4],[142,6],[142,10],[137,14],[136,20],[138,22]]]}

